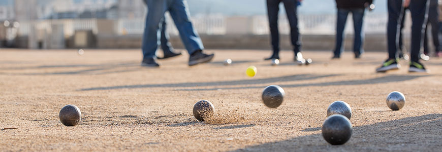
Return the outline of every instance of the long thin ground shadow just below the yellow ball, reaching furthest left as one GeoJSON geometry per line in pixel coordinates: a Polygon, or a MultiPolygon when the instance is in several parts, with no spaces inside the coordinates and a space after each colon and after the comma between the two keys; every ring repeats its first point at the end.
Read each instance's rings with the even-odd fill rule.
{"type": "Polygon", "coordinates": [[[299,74],[289,75],[285,77],[253,79],[253,80],[236,80],[236,81],[219,81],[219,82],[197,82],[197,83],[177,83],[177,84],[157,84],[157,85],[126,85],[112,87],[85,88],[79,91],[90,90],[114,90],[114,89],[134,89],[134,88],[155,88],[155,87],[199,87],[199,86],[227,86],[227,85],[250,85],[250,84],[266,84],[274,82],[290,82],[312,80],[326,77],[333,77],[338,74],[316,75],[316,74],[299,74]]]}

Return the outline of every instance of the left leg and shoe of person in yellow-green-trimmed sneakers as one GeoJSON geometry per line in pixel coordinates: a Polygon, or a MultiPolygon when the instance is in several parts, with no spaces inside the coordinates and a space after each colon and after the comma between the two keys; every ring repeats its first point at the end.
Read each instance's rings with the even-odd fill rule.
{"type": "Polygon", "coordinates": [[[376,72],[399,69],[398,48],[401,19],[403,15],[403,0],[387,0],[388,23],[387,23],[387,45],[388,59],[384,61],[376,72]]]}

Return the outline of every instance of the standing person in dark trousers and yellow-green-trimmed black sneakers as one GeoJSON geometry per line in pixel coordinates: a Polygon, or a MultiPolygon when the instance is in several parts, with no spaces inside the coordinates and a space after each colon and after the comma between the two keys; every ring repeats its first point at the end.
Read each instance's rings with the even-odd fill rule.
{"type": "Polygon", "coordinates": [[[411,40],[411,61],[408,72],[427,72],[424,65],[419,62],[420,54],[423,51],[424,28],[428,18],[430,0],[388,0],[388,24],[387,24],[387,44],[388,59],[384,61],[376,72],[386,72],[388,70],[399,69],[398,47],[399,30],[403,7],[409,7],[412,15],[412,40],[411,40]]]}

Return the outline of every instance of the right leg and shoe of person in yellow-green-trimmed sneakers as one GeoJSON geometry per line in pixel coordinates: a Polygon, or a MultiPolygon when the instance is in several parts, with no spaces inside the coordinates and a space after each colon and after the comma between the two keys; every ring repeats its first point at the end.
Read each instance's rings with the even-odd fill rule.
{"type": "Polygon", "coordinates": [[[410,12],[412,14],[412,46],[411,64],[408,71],[426,72],[425,67],[419,62],[422,51],[425,23],[428,17],[429,1],[411,0],[410,12]]]}

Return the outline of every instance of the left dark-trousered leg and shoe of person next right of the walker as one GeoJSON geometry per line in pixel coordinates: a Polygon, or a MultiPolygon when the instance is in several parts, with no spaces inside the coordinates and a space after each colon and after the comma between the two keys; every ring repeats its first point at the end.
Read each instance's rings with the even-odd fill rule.
{"type": "Polygon", "coordinates": [[[270,26],[270,38],[273,53],[272,56],[266,58],[269,59],[279,59],[279,30],[278,30],[278,12],[280,0],[267,0],[267,16],[269,19],[270,26]]]}

